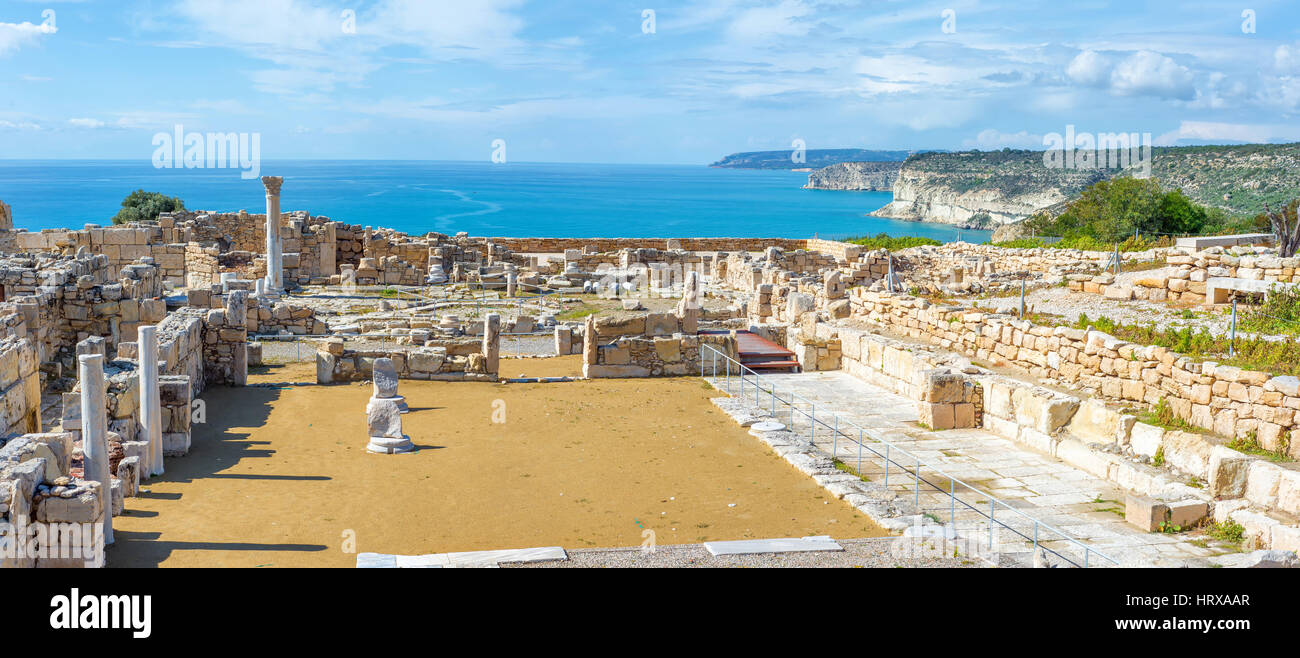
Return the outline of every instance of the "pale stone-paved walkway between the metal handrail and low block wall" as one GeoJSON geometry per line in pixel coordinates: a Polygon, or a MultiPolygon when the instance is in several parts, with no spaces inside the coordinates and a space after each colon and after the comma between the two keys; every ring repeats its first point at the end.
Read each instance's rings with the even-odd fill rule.
{"type": "MultiPolygon", "coordinates": [[[[725,390],[724,380],[714,381],[725,390]]],[[[1000,501],[993,503],[994,518],[1019,532],[1017,534],[994,525],[994,559],[998,555],[1013,557],[1023,563],[1027,557],[1032,557],[1035,520],[1040,521],[1037,538],[1041,546],[1060,554],[1049,554],[1049,562],[1067,557],[1074,563],[1082,563],[1086,551],[1062,540],[1046,525],[1087,545],[1089,553],[1101,551],[1123,566],[1179,566],[1188,560],[1208,566],[1202,558],[1225,553],[1190,544],[1187,536],[1147,533],[1126,524],[1124,493],[1118,486],[1053,456],[983,429],[926,430],[916,424],[914,402],[848,373],[763,375],[759,381],[764,389],[776,385],[777,395],[784,399],[789,399],[790,394],[798,397],[796,407],[800,411],[793,419],[789,406],[780,403],[776,406],[776,416],[801,436],[810,433],[809,414],[831,425],[838,417],[840,430],[853,436],[857,436],[858,429],[845,421],[864,428],[868,450],[859,451],[855,441],[844,437],[835,441],[835,433],[820,424],[815,428],[812,441],[818,449],[828,454],[833,451],[837,459],[867,480],[884,482],[900,503],[915,505],[911,514],[923,514],[928,523],[949,524],[956,520],[957,537],[953,541],[965,544],[963,547],[972,553],[988,549],[987,515],[991,495],[1000,501]],[[888,480],[885,460],[870,450],[884,454],[885,447],[872,442],[870,433],[896,446],[889,454],[893,464],[889,467],[888,480]],[[897,447],[906,454],[900,455],[897,447]],[[916,458],[927,464],[922,467],[919,486],[911,475],[916,458]],[[956,492],[957,502],[949,495],[950,490],[956,492]]],[[[746,378],[745,395],[754,401],[750,382],[746,378]]],[[[731,393],[733,397],[741,394],[734,377],[731,380],[731,393]]],[[[757,406],[771,411],[771,397],[760,393],[757,406]]],[[[935,527],[923,532],[933,532],[935,534],[928,536],[942,540],[942,531],[935,527]]],[[[1096,554],[1088,555],[1088,563],[1106,566],[1096,554]]]]}

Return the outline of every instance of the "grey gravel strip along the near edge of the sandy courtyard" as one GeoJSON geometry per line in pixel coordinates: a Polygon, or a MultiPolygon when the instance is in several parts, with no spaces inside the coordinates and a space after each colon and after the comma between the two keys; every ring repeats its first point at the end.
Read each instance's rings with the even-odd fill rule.
{"type": "Polygon", "coordinates": [[[627,549],[577,549],[568,551],[564,562],[534,562],[526,564],[502,564],[503,568],[677,568],[677,567],[930,567],[930,568],[970,568],[987,567],[979,559],[953,558],[906,558],[890,554],[894,537],[867,540],[836,540],[842,551],[816,553],[760,553],[751,555],[714,557],[703,544],[682,544],[656,546],[654,553],[640,547],[627,549]]]}

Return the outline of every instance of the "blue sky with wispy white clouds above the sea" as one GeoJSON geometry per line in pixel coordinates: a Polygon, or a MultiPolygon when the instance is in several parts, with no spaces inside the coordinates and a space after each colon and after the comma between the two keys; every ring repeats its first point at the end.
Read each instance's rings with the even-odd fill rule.
{"type": "Polygon", "coordinates": [[[1294,0],[0,0],[13,159],[148,159],[178,124],[264,159],[706,164],[1295,142],[1297,114],[1294,0]]]}

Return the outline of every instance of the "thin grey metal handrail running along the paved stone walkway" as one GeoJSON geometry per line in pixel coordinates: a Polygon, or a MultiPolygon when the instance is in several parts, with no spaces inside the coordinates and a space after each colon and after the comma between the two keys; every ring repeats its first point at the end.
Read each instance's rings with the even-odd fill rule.
{"type": "MultiPolygon", "coordinates": [[[[1119,566],[1119,560],[1117,560],[1117,559],[1106,555],[1105,553],[1102,553],[1102,551],[1100,551],[1097,549],[1093,549],[1093,547],[1088,546],[1087,544],[1083,544],[1083,542],[1075,540],[1074,537],[1070,537],[1069,534],[1066,534],[1065,532],[1062,532],[1058,528],[1054,528],[1054,527],[1052,527],[1052,525],[1049,525],[1046,523],[1043,523],[1043,521],[1040,521],[1040,520],[1037,520],[1037,519],[1035,519],[1035,518],[1024,514],[1023,511],[1020,511],[1020,510],[1018,510],[1015,507],[1011,507],[1006,502],[1004,502],[1004,501],[1001,501],[1001,499],[998,499],[998,498],[996,498],[993,495],[989,495],[988,493],[982,492],[980,489],[976,489],[975,486],[972,486],[972,485],[970,485],[967,482],[963,482],[963,481],[961,481],[961,480],[958,480],[956,477],[949,476],[941,468],[939,468],[939,467],[936,467],[933,464],[926,463],[926,460],[923,460],[922,458],[919,458],[919,456],[909,453],[906,449],[904,449],[901,446],[897,446],[894,443],[890,443],[889,441],[884,440],[875,430],[863,428],[863,427],[858,425],[857,423],[853,423],[849,419],[841,419],[838,416],[838,414],[833,415],[833,417],[831,419],[831,423],[827,423],[827,420],[824,417],[823,419],[818,419],[816,417],[816,404],[812,403],[811,401],[800,398],[794,393],[789,394],[789,401],[783,399],[780,395],[777,395],[775,385],[771,385],[771,386],[768,386],[764,390],[759,385],[758,373],[754,372],[753,369],[745,367],[745,364],[742,364],[738,360],[732,359],[731,356],[723,354],[722,351],[719,351],[716,347],[714,347],[711,345],[701,345],[701,347],[708,350],[708,352],[711,354],[712,377],[714,377],[714,380],[718,378],[718,358],[719,356],[723,358],[723,360],[724,360],[724,363],[727,365],[727,368],[725,368],[725,377],[727,377],[727,380],[725,380],[725,393],[728,395],[732,395],[732,391],[731,391],[731,388],[732,388],[731,386],[731,371],[732,371],[732,368],[731,368],[731,365],[734,364],[737,367],[737,372],[740,373],[740,397],[742,399],[746,397],[746,394],[745,394],[745,385],[746,385],[746,382],[745,382],[745,375],[749,373],[750,375],[750,381],[753,382],[753,388],[754,388],[754,404],[755,406],[760,406],[759,404],[759,402],[760,402],[760,394],[766,393],[766,394],[768,394],[770,401],[771,401],[770,406],[771,406],[771,414],[772,414],[774,417],[777,417],[776,416],[776,403],[777,402],[780,402],[781,404],[785,404],[785,406],[789,407],[789,419],[790,419],[789,427],[792,429],[794,427],[794,414],[796,412],[798,412],[803,417],[807,417],[807,420],[809,420],[809,441],[810,442],[812,442],[812,440],[816,436],[816,427],[818,425],[822,425],[823,428],[831,430],[832,432],[832,449],[831,449],[831,451],[832,451],[832,454],[831,454],[832,459],[838,460],[838,441],[840,441],[840,437],[845,437],[845,438],[848,438],[848,440],[850,440],[850,441],[853,441],[853,442],[855,442],[858,445],[858,473],[862,473],[862,451],[863,450],[866,450],[866,451],[876,455],[878,458],[884,459],[884,462],[885,462],[885,480],[884,480],[885,486],[889,485],[889,466],[890,464],[901,467],[904,469],[904,472],[909,472],[913,476],[913,479],[915,480],[915,482],[916,482],[914,497],[915,497],[915,505],[916,505],[918,510],[920,508],[920,485],[922,485],[922,482],[924,482],[926,485],[932,486],[935,490],[948,494],[948,498],[949,498],[949,525],[956,525],[957,506],[958,505],[961,505],[966,510],[974,511],[975,514],[980,515],[980,518],[983,518],[983,519],[988,519],[988,521],[989,521],[989,528],[988,528],[988,549],[989,550],[993,550],[993,528],[994,528],[994,525],[1001,525],[1002,528],[1006,528],[1006,529],[1011,531],[1013,533],[1018,534],[1019,537],[1022,537],[1024,540],[1028,540],[1028,541],[1032,541],[1035,550],[1037,550],[1037,549],[1041,547],[1043,550],[1045,550],[1048,553],[1052,553],[1053,555],[1057,555],[1062,560],[1069,562],[1070,564],[1074,564],[1076,567],[1084,567],[1084,568],[1087,568],[1089,566],[1092,555],[1097,555],[1097,557],[1105,559],[1106,562],[1110,562],[1112,564],[1119,566]],[[807,404],[809,410],[807,411],[800,410],[798,408],[800,403],[807,404]],[[857,429],[857,437],[854,437],[852,433],[844,432],[841,429],[841,425],[848,425],[849,428],[855,428],[857,429]],[[870,438],[870,441],[864,441],[864,438],[870,438]],[[884,453],[880,453],[875,447],[876,445],[884,446],[884,453]],[[898,462],[898,458],[906,458],[907,463],[904,464],[902,462],[898,462]],[[930,469],[932,473],[936,473],[940,477],[948,480],[948,485],[949,486],[946,489],[944,489],[939,484],[935,484],[935,482],[931,482],[930,480],[926,480],[922,476],[922,468],[930,469]],[[980,497],[987,498],[988,499],[988,511],[985,512],[982,507],[976,507],[976,505],[980,505],[980,502],[976,502],[976,505],[971,505],[971,503],[968,503],[966,501],[962,501],[957,495],[957,485],[961,485],[961,486],[966,488],[967,490],[975,492],[980,497]],[[1011,525],[1008,525],[1008,523],[1005,520],[998,519],[997,518],[997,508],[998,507],[1002,507],[1005,510],[1010,510],[1010,511],[1015,512],[1017,515],[1023,516],[1026,520],[1034,521],[1034,533],[1032,533],[1032,536],[1026,534],[1026,533],[1020,532],[1019,529],[1013,528],[1011,525]],[[1040,531],[1044,531],[1044,529],[1054,533],[1061,540],[1065,540],[1066,542],[1076,546],[1078,549],[1082,549],[1083,550],[1083,563],[1075,562],[1075,559],[1071,559],[1070,555],[1062,554],[1058,550],[1054,550],[1054,549],[1052,549],[1049,546],[1043,545],[1041,541],[1040,541],[1040,538],[1039,538],[1039,534],[1040,534],[1040,531]]],[[[703,354],[701,354],[701,356],[703,354]]],[[[705,377],[705,359],[703,358],[699,359],[699,376],[705,377]]],[[[1050,541],[1050,540],[1046,540],[1046,541],[1050,541]]]]}

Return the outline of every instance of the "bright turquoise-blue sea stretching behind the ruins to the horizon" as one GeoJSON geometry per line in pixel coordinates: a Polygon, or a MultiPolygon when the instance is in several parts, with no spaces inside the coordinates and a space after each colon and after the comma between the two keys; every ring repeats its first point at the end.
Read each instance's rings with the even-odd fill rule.
{"type": "MultiPolygon", "coordinates": [[[[494,237],[823,238],[888,233],[983,242],[988,231],[867,217],[889,192],[803,190],[806,173],[689,165],[265,161],[282,208],[411,234],[494,237]]],[[[29,230],[108,224],[133,190],[187,208],[264,212],[235,169],[155,169],[147,160],[0,160],[0,200],[29,230]]]]}

